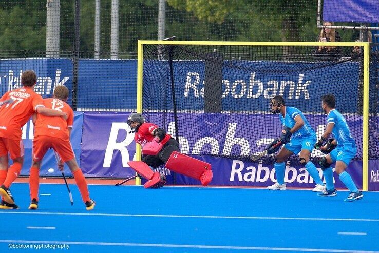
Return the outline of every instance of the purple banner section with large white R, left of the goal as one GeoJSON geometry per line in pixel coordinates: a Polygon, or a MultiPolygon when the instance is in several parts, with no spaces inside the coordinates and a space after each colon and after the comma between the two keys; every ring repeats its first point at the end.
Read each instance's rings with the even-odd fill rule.
{"type": "Polygon", "coordinates": [[[85,112],[81,168],[91,177],[133,176],[127,162],[134,160],[136,144],[126,123],[130,113],[85,112]]]}

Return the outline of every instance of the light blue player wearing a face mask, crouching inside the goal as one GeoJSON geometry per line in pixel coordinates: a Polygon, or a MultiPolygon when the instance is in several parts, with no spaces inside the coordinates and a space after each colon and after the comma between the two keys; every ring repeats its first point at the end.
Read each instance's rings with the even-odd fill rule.
{"type": "Polygon", "coordinates": [[[281,142],[285,144],[275,157],[275,173],[277,182],[269,187],[269,190],[285,190],[284,182],[286,165],[285,160],[293,154],[299,154],[299,160],[304,165],[308,173],[316,183],[313,191],[323,191],[325,186],[318,174],[316,166],[309,161],[309,157],[313,150],[313,146],[317,141],[316,133],[309,125],[307,119],[302,112],[295,108],[286,106],[282,96],[275,96],[270,100],[270,110],[272,113],[279,113],[279,119],[283,124],[283,131],[280,139],[276,139],[268,146],[268,154],[275,153],[280,146],[273,146],[281,142]],[[292,137],[292,138],[291,138],[292,137]]]}

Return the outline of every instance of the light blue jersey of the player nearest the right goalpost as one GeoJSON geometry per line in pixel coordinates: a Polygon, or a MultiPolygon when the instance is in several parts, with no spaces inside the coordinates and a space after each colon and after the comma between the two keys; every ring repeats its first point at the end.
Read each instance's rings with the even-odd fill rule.
{"type": "Polygon", "coordinates": [[[356,148],[355,141],[351,135],[346,119],[336,109],[333,109],[328,114],[327,124],[334,123],[332,133],[337,141],[337,148],[351,149],[356,148]]]}

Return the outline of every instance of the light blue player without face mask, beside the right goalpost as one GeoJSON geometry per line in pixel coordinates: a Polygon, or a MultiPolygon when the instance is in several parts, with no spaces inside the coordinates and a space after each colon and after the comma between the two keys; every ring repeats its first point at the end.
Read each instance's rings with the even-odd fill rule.
{"type": "Polygon", "coordinates": [[[344,116],[335,109],[334,95],[324,95],[321,98],[321,101],[324,113],[328,115],[327,126],[325,132],[321,135],[321,139],[314,147],[327,154],[318,161],[321,169],[323,169],[326,189],[323,192],[317,193],[317,195],[321,197],[336,196],[337,193],[333,184],[333,170],[330,166],[335,162],[335,171],[337,172],[339,179],[350,190],[350,194],[348,198],[345,199],[345,202],[362,199],[362,192],[357,189],[350,174],[345,171],[351,159],[353,159],[356,154],[356,145],[349,126],[347,125],[344,116]],[[331,133],[333,133],[335,139],[328,140],[331,133]],[[323,143],[326,141],[327,143],[323,146],[323,143]]]}

